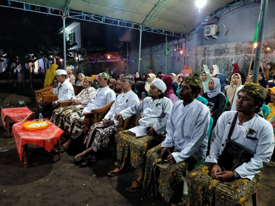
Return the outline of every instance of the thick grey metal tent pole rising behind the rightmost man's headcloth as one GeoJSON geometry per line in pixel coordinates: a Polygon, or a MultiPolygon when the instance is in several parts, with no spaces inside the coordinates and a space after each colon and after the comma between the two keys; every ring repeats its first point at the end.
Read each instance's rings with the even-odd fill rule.
{"type": "Polygon", "coordinates": [[[257,48],[255,52],[255,62],[254,62],[254,68],[253,68],[253,74],[252,74],[253,83],[258,83],[258,74],[259,74],[260,61],[261,61],[261,55],[262,55],[262,41],[263,41],[263,36],[264,36],[264,31],[266,26],[267,2],[268,0],[262,0],[262,3],[261,3],[257,48]]]}

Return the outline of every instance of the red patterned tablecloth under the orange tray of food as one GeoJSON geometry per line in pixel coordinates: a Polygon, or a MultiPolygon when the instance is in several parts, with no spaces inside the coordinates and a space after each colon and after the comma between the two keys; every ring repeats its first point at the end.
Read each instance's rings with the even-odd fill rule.
{"type": "MultiPolygon", "coordinates": [[[[33,120],[30,120],[33,121],[33,120]]],[[[23,125],[29,121],[19,122],[13,125],[12,136],[14,137],[16,149],[22,159],[23,146],[33,144],[44,147],[48,152],[51,151],[57,140],[63,133],[63,130],[50,122],[47,128],[40,130],[27,130],[23,125]]]]}

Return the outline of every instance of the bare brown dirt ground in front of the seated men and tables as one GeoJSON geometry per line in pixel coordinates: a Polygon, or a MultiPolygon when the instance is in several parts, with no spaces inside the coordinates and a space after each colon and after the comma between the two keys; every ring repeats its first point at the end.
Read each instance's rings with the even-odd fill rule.
{"type": "MultiPolygon", "coordinates": [[[[112,158],[103,158],[91,167],[73,164],[74,154],[64,153],[61,160],[43,148],[29,145],[28,168],[20,162],[13,138],[0,127],[0,205],[1,206],[168,206],[163,200],[145,196],[145,191],[125,190],[138,177],[130,171],[113,178],[107,172],[115,167],[112,158]],[[8,150],[6,152],[1,152],[8,150]]],[[[275,164],[271,162],[259,184],[259,205],[275,202],[275,164]]],[[[247,204],[252,206],[251,198],[247,204]]]]}

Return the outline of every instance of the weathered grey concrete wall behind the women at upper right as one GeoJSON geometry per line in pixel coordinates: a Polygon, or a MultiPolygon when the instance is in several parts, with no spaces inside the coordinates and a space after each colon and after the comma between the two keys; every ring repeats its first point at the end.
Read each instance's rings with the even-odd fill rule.
{"type": "MultiPolygon", "coordinates": [[[[212,67],[212,64],[217,64],[220,72],[229,77],[232,72],[231,64],[238,63],[240,70],[244,73],[248,72],[252,40],[254,38],[255,27],[259,19],[260,3],[252,2],[245,6],[229,7],[225,11],[218,13],[218,24],[223,23],[229,32],[224,36],[224,27],[219,27],[220,34],[218,39],[204,38],[204,27],[196,34],[195,31],[189,36],[187,47],[187,63],[196,70],[196,73],[201,72],[202,64],[207,64],[212,67]],[[195,35],[194,35],[195,34],[195,35]],[[250,41],[250,42],[249,42],[250,41]],[[229,75],[229,76],[228,76],[229,75]]],[[[268,2],[266,28],[264,39],[265,48],[270,47],[271,52],[262,53],[262,62],[275,60],[275,54],[272,53],[275,49],[275,1],[268,2]]]]}

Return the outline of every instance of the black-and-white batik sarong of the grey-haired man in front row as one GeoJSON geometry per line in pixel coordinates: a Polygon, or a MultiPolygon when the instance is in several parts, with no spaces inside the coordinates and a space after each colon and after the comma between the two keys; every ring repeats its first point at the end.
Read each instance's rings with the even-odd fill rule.
{"type": "Polygon", "coordinates": [[[106,127],[103,121],[92,125],[84,141],[86,149],[92,148],[94,152],[112,150],[116,132],[116,125],[106,127]]]}

